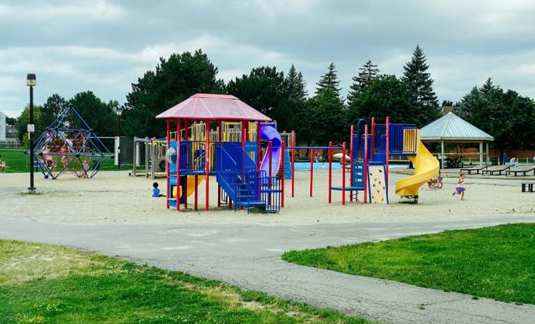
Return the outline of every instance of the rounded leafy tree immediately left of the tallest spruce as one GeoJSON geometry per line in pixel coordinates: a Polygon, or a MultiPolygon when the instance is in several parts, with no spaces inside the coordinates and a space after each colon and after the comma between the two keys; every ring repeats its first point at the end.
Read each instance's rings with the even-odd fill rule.
{"type": "Polygon", "coordinates": [[[405,84],[395,75],[381,76],[374,79],[367,90],[355,98],[348,107],[348,121],[357,124],[359,118],[371,122],[375,117],[378,122],[414,124],[417,122],[410,94],[405,84]]]}

